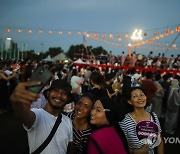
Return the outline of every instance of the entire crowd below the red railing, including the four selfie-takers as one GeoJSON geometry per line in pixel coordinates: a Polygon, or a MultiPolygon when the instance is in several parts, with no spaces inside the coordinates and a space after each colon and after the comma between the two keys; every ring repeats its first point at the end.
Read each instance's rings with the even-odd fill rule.
{"type": "Polygon", "coordinates": [[[174,134],[179,124],[179,85],[179,74],[138,72],[135,67],[124,72],[1,61],[0,114],[10,110],[21,120],[27,153],[163,154],[162,131],[174,134]],[[29,81],[39,66],[53,78],[37,94],[28,87],[41,84],[29,81]],[[49,134],[52,138],[42,148],[49,134]]]}

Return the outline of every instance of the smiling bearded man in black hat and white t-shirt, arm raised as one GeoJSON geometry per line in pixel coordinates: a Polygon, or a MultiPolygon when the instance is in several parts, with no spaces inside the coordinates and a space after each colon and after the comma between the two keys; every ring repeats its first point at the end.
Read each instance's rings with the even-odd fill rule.
{"type": "MultiPolygon", "coordinates": [[[[10,97],[14,113],[23,122],[24,129],[27,131],[30,153],[46,140],[63,107],[71,99],[71,86],[67,81],[58,79],[44,91],[47,99],[45,108],[30,109],[31,103],[39,97],[39,94],[27,88],[40,84],[39,82],[19,83],[10,97]]],[[[61,115],[61,123],[50,143],[42,151],[43,154],[73,153],[72,122],[67,116],[61,115]]]]}

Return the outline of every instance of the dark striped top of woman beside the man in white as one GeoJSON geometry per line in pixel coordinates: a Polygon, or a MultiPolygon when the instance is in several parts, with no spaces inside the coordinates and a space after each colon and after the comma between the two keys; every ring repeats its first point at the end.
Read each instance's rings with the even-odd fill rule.
{"type": "MultiPolygon", "coordinates": [[[[74,119],[75,113],[71,112],[67,115],[70,119],[74,119]]],[[[87,150],[87,142],[92,129],[77,130],[73,125],[73,143],[74,143],[74,154],[84,154],[87,150]]]]}

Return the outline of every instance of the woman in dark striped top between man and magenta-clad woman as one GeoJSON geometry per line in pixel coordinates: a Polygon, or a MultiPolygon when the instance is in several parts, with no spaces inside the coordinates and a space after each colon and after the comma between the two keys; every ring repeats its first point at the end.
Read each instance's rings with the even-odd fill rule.
{"type": "Polygon", "coordinates": [[[90,112],[94,105],[94,96],[85,93],[75,105],[75,110],[68,114],[73,123],[74,154],[87,153],[87,141],[92,131],[90,112]]]}

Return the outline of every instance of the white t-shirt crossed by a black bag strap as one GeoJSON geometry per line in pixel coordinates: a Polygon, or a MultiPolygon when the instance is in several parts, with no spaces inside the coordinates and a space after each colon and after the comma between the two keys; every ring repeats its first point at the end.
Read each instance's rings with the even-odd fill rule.
{"type": "MultiPolygon", "coordinates": [[[[33,108],[36,120],[30,129],[24,126],[28,133],[30,153],[34,152],[50,134],[57,117],[46,112],[44,109],[33,108]]],[[[62,121],[56,130],[52,140],[42,151],[42,154],[66,154],[68,143],[73,141],[71,120],[62,114],[62,121]]]]}

